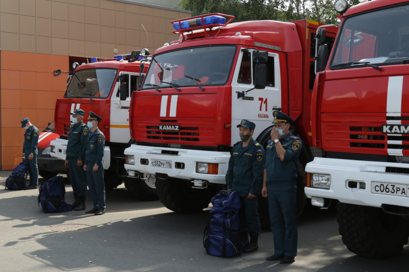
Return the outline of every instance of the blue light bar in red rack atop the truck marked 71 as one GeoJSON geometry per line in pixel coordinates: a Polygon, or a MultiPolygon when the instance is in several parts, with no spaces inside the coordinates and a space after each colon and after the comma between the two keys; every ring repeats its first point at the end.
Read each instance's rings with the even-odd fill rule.
{"type": "MultiPolygon", "coordinates": [[[[210,13],[205,15],[194,16],[190,18],[184,18],[179,20],[171,21],[170,23],[173,25],[175,29],[172,31],[174,34],[182,34],[183,32],[191,31],[191,30],[198,30],[203,29],[205,30],[206,37],[208,28],[213,27],[225,27],[231,21],[233,21],[235,17],[232,15],[226,15],[221,13],[210,13]],[[228,18],[228,19],[227,19],[228,18]]],[[[183,39],[184,35],[182,35],[183,39]]]]}

